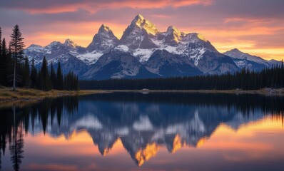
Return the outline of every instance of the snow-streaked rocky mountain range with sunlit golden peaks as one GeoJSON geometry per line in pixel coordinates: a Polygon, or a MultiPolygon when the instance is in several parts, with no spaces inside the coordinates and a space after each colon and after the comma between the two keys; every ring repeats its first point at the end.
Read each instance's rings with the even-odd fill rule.
{"type": "Polygon", "coordinates": [[[63,72],[73,71],[80,79],[165,78],[234,73],[241,68],[260,71],[280,63],[233,49],[218,52],[199,33],[183,33],[175,26],[160,32],[156,25],[138,14],[126,28],[121,39],[102,25],[86,47],[70,39],[54,41],[48,46],[31,45],[24,50],[36,66],[46,56],[63,72]]]}

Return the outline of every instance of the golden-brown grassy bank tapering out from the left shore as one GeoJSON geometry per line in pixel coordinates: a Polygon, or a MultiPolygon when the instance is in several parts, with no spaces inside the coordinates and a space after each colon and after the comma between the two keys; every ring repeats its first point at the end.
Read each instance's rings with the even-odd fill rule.
{"type": "Polygon", "coordinates": [[[64,95],[86,95],[93,93],[103,93],[103,91],[102,90],[42,91],[42,90],[25,89],[25,88],[18,88],[16,91],[12,91],[11,88],[0,87],[0,102],[11,101],[11,100],[40,100],[42,98],[56,98],[64,95]]]}

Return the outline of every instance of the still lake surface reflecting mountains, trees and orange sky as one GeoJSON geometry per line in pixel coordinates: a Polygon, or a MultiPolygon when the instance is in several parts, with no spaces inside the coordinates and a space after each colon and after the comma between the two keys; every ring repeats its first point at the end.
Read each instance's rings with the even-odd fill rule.
{"type": "Polygon", "coordinates": [[[1,170],[284,170],[284,98],[108,93],[0,108],[1,170]]]}

